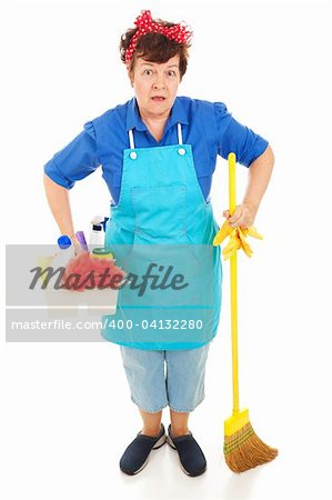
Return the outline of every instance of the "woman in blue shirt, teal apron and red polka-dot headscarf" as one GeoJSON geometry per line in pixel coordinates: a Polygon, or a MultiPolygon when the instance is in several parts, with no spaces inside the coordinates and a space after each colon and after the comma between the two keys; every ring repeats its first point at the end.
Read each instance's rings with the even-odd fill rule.
{"type": "MultiPolygon", "coordinates": [[[[211,249],[218,231],[209,198],[212,174],[217,154],[227,158],[231,151],[249,167],[249,182],[232,217],[227,210],[223,214],[232,227],[253,224],[272,172],[273,153],[266,140],[237,122],[222,102],[177,97],[191,36],[183,23],[154,21],[150,11],[142,11],[120,43],[135,97],[85,123],[84,130],[46,164],[50,208],[60,232],[73,241],[68,190],[101,164],[112,197],[108,246],[148,248],[148,243],[151,250],[151,244],[160,249],[170,243],[170,250],[172,244],[189,243],[211,249]]],[[[183,338],[175,338],[173,343],[164,339],[152,342],[151,338],[140,342],[140,337],[133,339],[130,331],[125,332],[127,341],[121,341],[112,328],[103,331],[108,340],[121,344],[131,398],[143,420],[142,430],[120,460],[121,470],[128,474],[141,471],[151,450],[165,440],[178,451],[187,474],[199,476],[207,469],[188,420],[204,398],[208,350],[219,322],[218,250],[213,250],[209,273],[213,277],[213,308],[208,308],[204,317],[209,328],[203,332],[197,329],[193,342],[183,338]],[[168,439],[161,423],[165,406],[170,407],[171,420],[168,439]]],[[[131,300],[123,292],[115,317],[129,318],[132,308],[125,309],[127,299],[131,300]]],[[[153,318],[155,309],[151,313],[149,304],[144,306],[144,313],[150,311],[153,318]]],[[[158,314],[162,314],[162,308],[158,314]]]]}

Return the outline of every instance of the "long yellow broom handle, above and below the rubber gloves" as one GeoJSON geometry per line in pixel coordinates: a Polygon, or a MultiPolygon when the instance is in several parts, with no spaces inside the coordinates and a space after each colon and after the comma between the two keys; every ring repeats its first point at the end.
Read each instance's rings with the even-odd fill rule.
{"type": "MultiPolygon", "coordinates": [[[[229,154],[229,198],[230,214],[237,207],[237,157],[229,154]]],[[[239,410],[239,367],[238,367],[238,252],[231,257],[231,330],[233,369],[233,414],[239,410]]]]}

